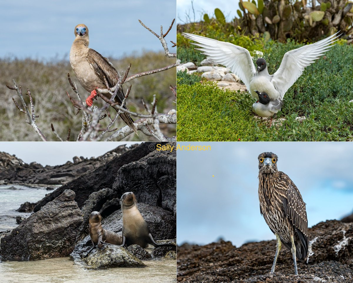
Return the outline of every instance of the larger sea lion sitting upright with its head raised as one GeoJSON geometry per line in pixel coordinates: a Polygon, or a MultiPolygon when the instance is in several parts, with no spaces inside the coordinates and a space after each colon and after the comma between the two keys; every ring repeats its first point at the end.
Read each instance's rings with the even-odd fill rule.
{"type": "Polygon", "coordinates": [[[143,219],[136,205],[136,197],[133,192],[124,193],[120,198],[122,210],[122,245],[139,245],[146,248],[148,244],[155,247],[173,246],[173,244],[158,244],[151,235],[150,228],[143,219]]]}

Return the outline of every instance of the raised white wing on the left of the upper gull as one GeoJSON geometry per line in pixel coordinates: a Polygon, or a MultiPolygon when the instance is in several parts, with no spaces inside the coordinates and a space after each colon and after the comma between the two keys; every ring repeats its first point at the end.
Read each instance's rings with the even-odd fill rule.
{"type": "Polygon", "coordinates": [[[230,68],[243,81],[246,88],[250,89],[250,82],[256,74],[256,69],[247,49],[229,42],[218,41],[200,35],[187,34],[185,32],[183,32],[183,35],[198,42],[192,43],[201,47],[195,49],[201,50],[202,54],[207,55],[218,64],[230,68]]]}

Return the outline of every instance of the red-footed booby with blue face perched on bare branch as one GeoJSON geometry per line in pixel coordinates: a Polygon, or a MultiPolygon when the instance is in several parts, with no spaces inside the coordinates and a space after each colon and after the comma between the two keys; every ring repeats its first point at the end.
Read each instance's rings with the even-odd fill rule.
{"type": "MultiPolygon", "coordinates": [[[[70,50],[70,64],[79,83],[85,90],[91,92],[91,95],[86,99],[87,105],[91,106],[93,98],[97,95],[96,89],[107,88],[103,77],[106,77],[109,87],[112,88],[118,83],[120,76],[107,58],[103,57],[96,50],[88,48],[89,35],[88,27],[86,25],[77,25],[74,34],[75,40],[73,41],[70,50]]],[[[109,98],[111,97],[109,94],[104,95],[109,98]]],[[[119,87],[118,93],[115,96],[115,102],[121,104],[124,97],[125,94],[122,88],[119,87]]],[[[125,104],[123,108],[127,109],[125,104]]],[[[115,107],[114,109],[118,111],[115,107]]],[[[131,117],[125,112],[122,112],[120,117],[124,120],[126,125],[132,128],[132,130],[138,135],[131,117]]]]}

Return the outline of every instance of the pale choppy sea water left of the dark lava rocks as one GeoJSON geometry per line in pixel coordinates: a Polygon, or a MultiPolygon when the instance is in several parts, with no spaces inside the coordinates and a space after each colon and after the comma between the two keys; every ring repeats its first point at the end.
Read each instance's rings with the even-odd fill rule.
{"type": "Polygon", "coordinates": [[[0,231],[16,228],[16,216],[28,217],[31,213],[17,212],[26,201],[34,203],[42,199],[48,191],[45,188],[29,188],[23,185],[0,185],[0,231]],[[10,189],[16,187],[17,189],[10,189]]]}

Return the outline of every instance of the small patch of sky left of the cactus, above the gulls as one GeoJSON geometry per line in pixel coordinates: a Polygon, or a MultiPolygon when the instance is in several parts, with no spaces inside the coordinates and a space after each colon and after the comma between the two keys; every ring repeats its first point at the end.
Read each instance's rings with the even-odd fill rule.
{"type": "MultiPolygon", "coordinates": [[[[215,8],[219,8],[229,22],[237,15],[239,1],[178,0],[178,23],[199,22],[200,19],[203,20],[203,14],[205,13],[211,18],[215,13],[215,8]]],[[[237,18],[239,17],[237,16],[237,18]]]]}

